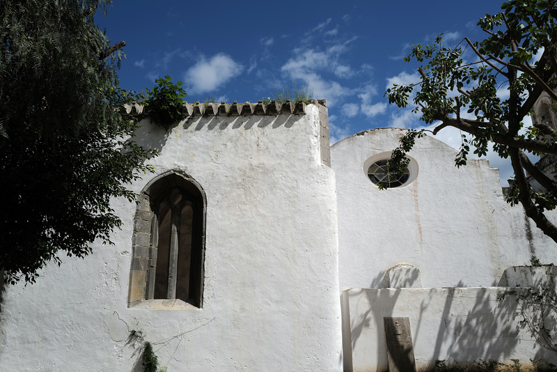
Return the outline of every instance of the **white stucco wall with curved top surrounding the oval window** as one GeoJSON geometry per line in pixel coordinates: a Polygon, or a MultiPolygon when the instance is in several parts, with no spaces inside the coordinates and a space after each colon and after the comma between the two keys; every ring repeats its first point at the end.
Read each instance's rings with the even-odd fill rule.
{"type": "Polygon", "coordinates": [[[466,287],[504,285],[505,268],[528,264],[532,253],[557,262],[555,243],[524,218],[521,206],[505,203],[498,170],[474,159],[457,168],[457,151],[432,137],[416,139],[409,153],[418,164],[416,180],[379,190],[364,163],[397,147],[402,134],[379,128],[331,146],[341,290],[384,288],[386,270],[398,263],[420,270],[423,287],[466,287]]]}

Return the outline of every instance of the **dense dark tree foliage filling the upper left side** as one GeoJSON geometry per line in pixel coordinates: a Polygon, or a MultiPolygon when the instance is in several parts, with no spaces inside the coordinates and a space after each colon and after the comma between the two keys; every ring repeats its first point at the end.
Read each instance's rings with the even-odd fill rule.
{"type": "Polygon", "coordinates": [[[110,199],[155,151],[132,140],[118,87],[125,42],[95,24],[109,0],[0,1],[0,269],[35,281],[56,252],[83,257],[121,222],[110,199]]]}

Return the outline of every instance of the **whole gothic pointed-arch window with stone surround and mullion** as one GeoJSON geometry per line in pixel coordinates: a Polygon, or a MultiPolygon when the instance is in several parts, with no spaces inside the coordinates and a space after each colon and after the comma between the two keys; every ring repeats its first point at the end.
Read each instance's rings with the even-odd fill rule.
{"type": "Polygon", "coordinates": [[[148,307],[202,306],[205,194],[193,178],[173,172],[146,186],[133,244],[130,306],[145,300],[157,300],[148,307]]]}

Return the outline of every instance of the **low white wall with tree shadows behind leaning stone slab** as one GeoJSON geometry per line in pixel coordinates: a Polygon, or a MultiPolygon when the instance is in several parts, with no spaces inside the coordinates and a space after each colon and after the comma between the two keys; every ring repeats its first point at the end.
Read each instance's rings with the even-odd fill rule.
{"type": "MultiPolygon", "coordinates": [[[[519,321],[515,288],[351,289],[343,293],[350,331],[347,371],[385,371],[388,365],[384,317],[408,317],[416,369],[434,362],[531,359],[557,364],[557,353],[541,348],[519,321]],[[503,300],[498,300],[504,293],[503,300]]],[[[347,357],[345,357],[347,359],[347,357]]]]}

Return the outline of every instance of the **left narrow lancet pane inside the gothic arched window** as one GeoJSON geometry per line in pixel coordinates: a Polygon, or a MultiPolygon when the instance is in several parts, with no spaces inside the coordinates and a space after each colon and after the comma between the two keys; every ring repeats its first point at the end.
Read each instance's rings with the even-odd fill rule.
{"type": "Polygon", "coordinates": [[[166,203],[159,206],[159,242],[157,244],[157,269],[154,298],[166,298],[168,288],[168,257],[172,231],[172,213],[166,203]]]}

